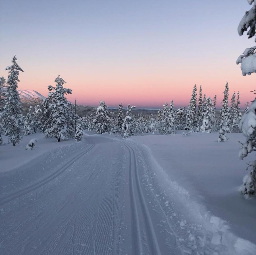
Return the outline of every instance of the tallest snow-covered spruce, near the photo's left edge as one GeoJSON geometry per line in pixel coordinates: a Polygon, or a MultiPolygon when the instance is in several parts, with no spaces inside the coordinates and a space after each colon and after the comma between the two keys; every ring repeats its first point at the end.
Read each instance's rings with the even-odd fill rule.
{"type": "Polygon", "coordinates": [[[16,56],[12,59],[12,65],[6,67],[9,70],[7,79],[7,91],[5,93],[5,106],[0,114],[0,124],[5,136],[9,137],[9,143],[19,143],[22,139],[24,120],[22,116],[22,105],[18,93],[19,71],[23,70],[16,63],[16,56]]]}

